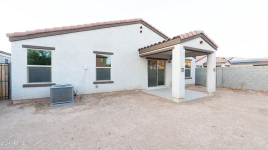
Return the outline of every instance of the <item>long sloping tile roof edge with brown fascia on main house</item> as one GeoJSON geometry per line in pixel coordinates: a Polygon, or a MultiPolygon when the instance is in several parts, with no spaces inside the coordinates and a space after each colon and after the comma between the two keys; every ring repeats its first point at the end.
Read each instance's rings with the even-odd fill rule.
{"type": "Polygon", "coordinates": [[[157,28],[155,28],[154,26],[152,26],[151,24],[149,24],[147,21],[143,20],[142,18],[28,30],[25,32],[7,33],[7,37],[9,37],[10,41],[15,41],[15,40],[23,40],[23,39],[51,36],[51,35],[57,35],[57,34],[65,34],[65,33],[77,32],[77,31],[85,31],[85,30],[100,29],[100,28],[106,28],[106,27],[136,24],[136,23],[142,23],[143,25],[153,30],[155,33],[162,36],[164,39],[169,38],[163,32],[161,32],[160,30],[158,30],[157,28]]]}

